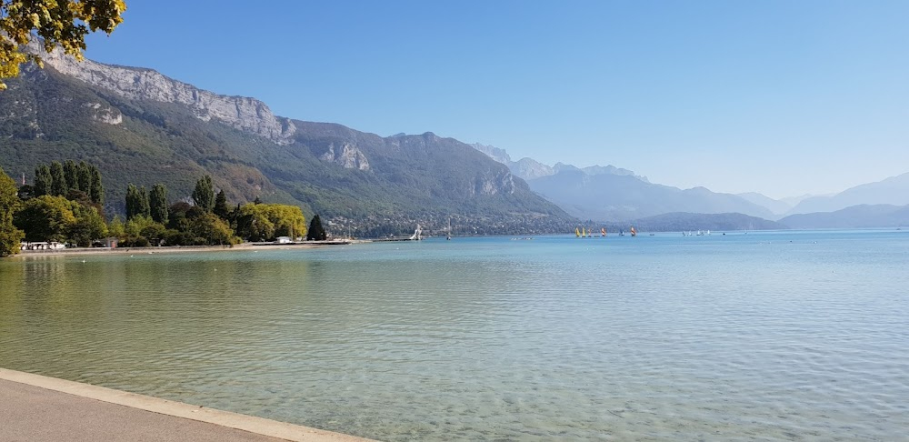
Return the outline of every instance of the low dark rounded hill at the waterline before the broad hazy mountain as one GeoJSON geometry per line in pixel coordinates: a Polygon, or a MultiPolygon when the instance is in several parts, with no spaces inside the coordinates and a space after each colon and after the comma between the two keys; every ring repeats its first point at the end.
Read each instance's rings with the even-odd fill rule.
{"type": "Polygon", "coordinates": [[[780,223],[742,214],[692,214],[676,212],[636,219],[630,223],[638,231],[674,232],[696,230],[774,230],[780,223]]]}

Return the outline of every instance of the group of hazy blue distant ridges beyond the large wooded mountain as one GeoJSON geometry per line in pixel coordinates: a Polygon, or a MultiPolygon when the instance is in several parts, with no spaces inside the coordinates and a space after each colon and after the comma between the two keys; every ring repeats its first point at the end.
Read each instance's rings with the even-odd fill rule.
{"type": "MultiPolygon", "coordinates": [[[[794,196],[774,199],[756,192],[724,194],[704,187],[680,189],[651,183],[644,176],[616,166],[576,166],[557,163],[546,166],[532,158],[512,161],[504,149],[480,144],[474,148],[490,156],[527,181],[534,192],[545,196],[566,212],[580,219],[628,221],[641,223],[641,218],[674,213],[727,214],[738,213],[767,220],[780,220],[784,216],[832,212],[849,206],[909,204],[909,173],[846,189],[832,196],[794,196]]],[[[861,210],[847,212],[859,214],[861,210]]],[[[788,218],[797,219],[797,218],[788,218]]],[[[827,218],[813,218],[824,227],[827,218]]],[[[856,225],[874,225],[873,217],[864,216],[856,225]]],[[[889,226],[890,221],[881,220],[889,226]],[[888,224],[889,223],[889,224],[888,224]]],[[[843,224],[843,221],[833,222],[843,224]]],[[[781,225],[784,227],[784,220],[781,225]]],[[[846,223],[849,224],[849,223],[846,223]]],[[[770,226],[770,225],[764,225],[770,226]]],[[[766,227],[770,228],[770,227],[766,227]]]]}

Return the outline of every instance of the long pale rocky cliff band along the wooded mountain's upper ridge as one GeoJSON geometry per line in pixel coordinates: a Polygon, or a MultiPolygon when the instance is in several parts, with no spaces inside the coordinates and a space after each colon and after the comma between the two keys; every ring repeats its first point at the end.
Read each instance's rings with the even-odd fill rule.
{"type": "Polygon", "coordinates": [[[45,65],[131,99],[154,100],[189,107],[196,118],[216,120],[227,126],[263,136],[279,145],[290,144],[296,132],[293,122],[275,116],[265,103],[244,96],[217,95],[176,81],[151,69],[105,65],[85,59],[78,62],[59,49],[48,54],[37,42],[28,51],[41,55],[45,65]]]}

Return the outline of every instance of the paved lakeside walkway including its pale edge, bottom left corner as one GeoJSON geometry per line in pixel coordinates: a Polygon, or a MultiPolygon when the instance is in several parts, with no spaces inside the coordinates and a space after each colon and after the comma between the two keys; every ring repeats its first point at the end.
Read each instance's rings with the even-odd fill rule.
{"type": "Polygon", "coordinates": [[[365,441],[359,437],[0,368],[4,441],[365,441]]]}

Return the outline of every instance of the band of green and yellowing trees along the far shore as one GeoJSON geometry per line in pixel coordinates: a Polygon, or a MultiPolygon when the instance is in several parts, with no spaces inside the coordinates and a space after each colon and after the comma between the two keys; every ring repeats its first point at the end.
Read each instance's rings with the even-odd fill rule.
{"type": "Polygon", "coordinates": [[[126,188],[125,220],[107,221],[104,186],[95,166],[52,162],[35,168],[35,185],[16,186],[0,168],[0,256],[18,253],[21,242],[75,246],[230,246],[288,236],[325,239],[318,216],[309,227],[299,206],[252,203],[228,206],[211,176],[190,198],[170,203],[167,188],[126,188]],[[307,235],[313,231],[313,235],[307,235]]]}

